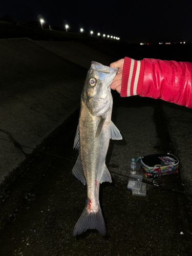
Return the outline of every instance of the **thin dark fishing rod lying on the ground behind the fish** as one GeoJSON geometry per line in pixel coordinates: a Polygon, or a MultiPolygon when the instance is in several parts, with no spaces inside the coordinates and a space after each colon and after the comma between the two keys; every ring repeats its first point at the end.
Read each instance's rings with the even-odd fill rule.
{"type": "MultiPolygon", "coordinates": [[[[51,155],[51,156],[54,156],[54,157],[59,157],[59,158],[65,159],[65,160],[69,160],[69,161],[75,162],[72,159],[69,159],[69,158],[66,158],[66,157],[62,157],[62,156],[58,156],[58,155],[55,155],[53,153],[49,153],[49,152],[46,152],[46,151],[43,151],[43,150],[37,150],[36,148],[31,148],[29,146],[20,145],[19,143],[16,143],[14,141],[6,140],[6,139],[3,139],[3,138],[0,138],[0,140],[7,141],[7,142],[13,143],[13,144],[18,145],[18,146],[26,147],[26,148],[29,148],[30,150],[38,151],[38,152],[41,152],[41,153],[44,153],[44,154],[47,154],[47,155],[51,155]]],[[[135,177],[131,177],[129,175],[118,174],[118,173],[115,173],[115,172],[112,172],[112,171],[110,171],[110,173],[116,174],[116,175],[119,175],[119,176],[123,176],[123,177],[126,177],[126,178],[131,178],[131,179],[134,179],[134,180],[137,180],[137,181],[140,181],[140,182],[152,185],[152,186],[157,186],[157,187],[160,187],[160,188],[163,188],[163,189],[172,190],[174,192],[177,192],[177,193],[180,193],[180,194],[184,194],[184,195],[187,195],[187,196],[190,196],[190,197],[192,196],[192,194],[190,194],[190,193],[186,193],[186,192],[174,189],[174,188],[169,188],[169,187],[161,186],[161,185],[158,185],[158,184],[156,184],[154,182],[151,182],[151,181],[140,180],[140,179],[137,179],[135,177]]]]}

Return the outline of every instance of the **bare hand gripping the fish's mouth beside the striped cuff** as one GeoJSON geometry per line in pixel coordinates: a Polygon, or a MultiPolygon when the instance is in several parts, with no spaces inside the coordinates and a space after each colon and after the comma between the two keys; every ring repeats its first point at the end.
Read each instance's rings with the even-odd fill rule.
{"type": "Polygon", "coordinates": [[[118,93],[121,92],[123,64],[124,64],[124,59],[119,59],[110,64],[110,68],[119,68],[117,75],[114,77],[113,82],[110,86],[112,90],[116,90],[118,93]]]}

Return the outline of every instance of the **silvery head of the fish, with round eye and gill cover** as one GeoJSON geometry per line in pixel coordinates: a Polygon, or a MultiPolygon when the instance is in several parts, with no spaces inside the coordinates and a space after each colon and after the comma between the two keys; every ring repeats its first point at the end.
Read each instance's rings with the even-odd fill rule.
{"type": "Polygon", "coordinates": [[[96,61],[91,63],[81,97],[93,116],[102,116],[113,104],[110,85],[118,68],[110,68],[96,61]]]}

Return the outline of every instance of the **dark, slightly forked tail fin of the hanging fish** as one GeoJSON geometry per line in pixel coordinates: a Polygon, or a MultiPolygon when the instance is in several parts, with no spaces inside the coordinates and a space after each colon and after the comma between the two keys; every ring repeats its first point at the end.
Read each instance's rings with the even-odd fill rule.
{"type": "Polygon", "coordinates": [[[84,208],[74,227],[73,236],[77,236],[87,229],[97,229],[101,236],[105,236],[106,228],[100,206],[97,212],[89,212],[87,206],[84,208]]]}

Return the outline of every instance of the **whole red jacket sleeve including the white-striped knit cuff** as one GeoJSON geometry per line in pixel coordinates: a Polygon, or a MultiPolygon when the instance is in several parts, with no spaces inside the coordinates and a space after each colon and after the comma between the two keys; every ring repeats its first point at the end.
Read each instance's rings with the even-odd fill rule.
{"type": "Polygon", "coordinates": [[[192,108],[192,63],[159,59],[137,61],[125,57],[121,96],[132,95],[192,108]]]}

